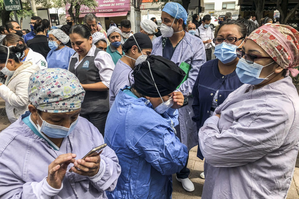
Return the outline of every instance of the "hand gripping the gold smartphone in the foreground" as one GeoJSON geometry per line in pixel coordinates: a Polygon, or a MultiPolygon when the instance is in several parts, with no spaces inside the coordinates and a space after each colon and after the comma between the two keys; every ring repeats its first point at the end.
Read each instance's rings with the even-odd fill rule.
{"type": "Polygon", "coordinates": [[[87,157],[85,160],[76,160],[74,162],[74,166],[71,167],[72,171],[79,175],[93,177],[99,172],[100,169],[101,152],[95,154],[94,156],[87,157]]]}

